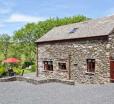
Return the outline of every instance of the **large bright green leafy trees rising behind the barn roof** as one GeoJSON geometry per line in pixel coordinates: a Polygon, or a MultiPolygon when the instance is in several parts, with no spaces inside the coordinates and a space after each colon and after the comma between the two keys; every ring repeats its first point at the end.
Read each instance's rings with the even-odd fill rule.
{"type": "Polygon", "coordinates": [[[23,49],[23,54],[30,59],[35,59],[35,41],[51,30],[53,27],[77,23],[88,20],[85,16],[73,16],[65,18],[50,18],[38,23],[28,23],[14,32],[13,39],[23,49]]]}

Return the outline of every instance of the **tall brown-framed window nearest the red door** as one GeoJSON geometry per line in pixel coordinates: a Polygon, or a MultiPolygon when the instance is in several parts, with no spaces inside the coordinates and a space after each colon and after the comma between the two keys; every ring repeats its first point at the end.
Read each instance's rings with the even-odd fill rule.
{"type": "Polygon", "coordinates": [[[95,72],[95,59],[87,59],[87,72],[95,72]]]}

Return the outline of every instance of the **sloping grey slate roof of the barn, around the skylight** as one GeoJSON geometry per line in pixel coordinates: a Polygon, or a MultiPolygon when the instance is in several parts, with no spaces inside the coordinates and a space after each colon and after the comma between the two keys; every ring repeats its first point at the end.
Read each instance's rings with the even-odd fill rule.
{"type": "Polygon", "coordinates": [[[80,23],[54,27],[36,42],[69,40],[109,35],[114,29],[114,15],[80,23]],[[76,28],[74,33],[69,33],[76,28]]]}

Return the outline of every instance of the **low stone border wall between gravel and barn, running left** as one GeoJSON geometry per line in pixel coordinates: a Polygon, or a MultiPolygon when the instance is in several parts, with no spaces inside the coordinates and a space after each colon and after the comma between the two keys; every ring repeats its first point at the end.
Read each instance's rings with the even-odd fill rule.
{"type": "Polygon", "coordinates": [[[43,83],[50,83],[50,82],[57,82],[57,83],[75,85],[75,82],[73,80],[63,80],[63,79],[54,79],[54,78],[42,79],[42,80],[37,80],[37,79],[34,79],[34,78],[22,77],[22,76],[13,76],[13,77],[7,77],[7,78],[0,78],[0,82],[10,82],[10,81],[25,81],[25,82],[32,83],[32,84],[35,84],[35,85],[43,84],[43,83]]]}

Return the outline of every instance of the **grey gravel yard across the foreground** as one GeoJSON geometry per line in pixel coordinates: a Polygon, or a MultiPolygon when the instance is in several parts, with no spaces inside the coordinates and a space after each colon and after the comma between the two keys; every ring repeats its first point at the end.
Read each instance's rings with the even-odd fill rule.
{"type": "Polygon", "coordinates": [[[114,104],[114,84],[0,82],[0,104],[114,104]]]}

